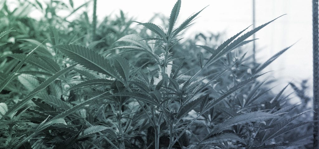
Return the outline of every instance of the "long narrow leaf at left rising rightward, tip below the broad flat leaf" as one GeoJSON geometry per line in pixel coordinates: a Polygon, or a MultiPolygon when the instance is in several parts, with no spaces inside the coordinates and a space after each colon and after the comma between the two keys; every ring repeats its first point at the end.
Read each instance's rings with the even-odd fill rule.
{"type": "Polygon", "coordinates": [[[37,93],[48,87],[53,81],[55,81],[60,76],[64,75],[66,72],[70,71],[76,64],[73,64],[63,70],[57,72],[44,82],[42,82],[39,86],[37,86],[33,91],[31,91],[24,99],[19,101],[17,104],[13,105],[6,115],[11,115],[12,113],[18,111],[21,107],[23,107],[27,102],[29,102],[37,93]]]}

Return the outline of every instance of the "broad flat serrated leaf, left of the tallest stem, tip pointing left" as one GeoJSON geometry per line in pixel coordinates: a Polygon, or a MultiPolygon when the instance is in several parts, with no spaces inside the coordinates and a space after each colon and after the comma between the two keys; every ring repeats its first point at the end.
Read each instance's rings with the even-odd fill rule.
{"type": "Polygon", "coordinates": [[[89,70],[117,78],[116,73],[108,60],[93,50],[75,44],[61,44],[53,46],[53,48],[59,49],[59,51],[68,58],[89,70]]]}

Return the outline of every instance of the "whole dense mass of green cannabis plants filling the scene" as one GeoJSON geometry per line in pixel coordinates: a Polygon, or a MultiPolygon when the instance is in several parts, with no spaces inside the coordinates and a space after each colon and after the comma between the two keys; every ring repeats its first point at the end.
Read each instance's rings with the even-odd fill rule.
{"type": "Polygon", "coordinates": [[[216,35],[180,38],[202,11],[175,24],[181,0],[165,26],[129,22],[121,11],[97,27],[86,12],[72,22],[56,16],[78,10],[71,0],[36,2],[21,5],[39,7],[40,21],[5,1],[1,9],[0,148],[311,147],[300,143],[312,123],[299,119],[310,113],[305,87],[290,83],[307,99],[291,105],[288,85],[274,94],[256,81],[289,47],[263,64],[240,49],[277,18],[217,45],[216,35]]]}

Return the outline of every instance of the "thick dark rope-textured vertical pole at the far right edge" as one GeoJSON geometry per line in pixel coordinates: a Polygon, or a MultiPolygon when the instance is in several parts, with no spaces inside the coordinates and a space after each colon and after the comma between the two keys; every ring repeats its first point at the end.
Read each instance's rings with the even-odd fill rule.
{"type": "MultiPolygon", "coordinates": [[[[318,0],[312,0],[312,51],[313,51],[313,105],[314,120],[319,120],[319,36],[318,36],[318,0]]],[[[314,122],[314,149],[319,149],[319,123],[314,122]]]]}

